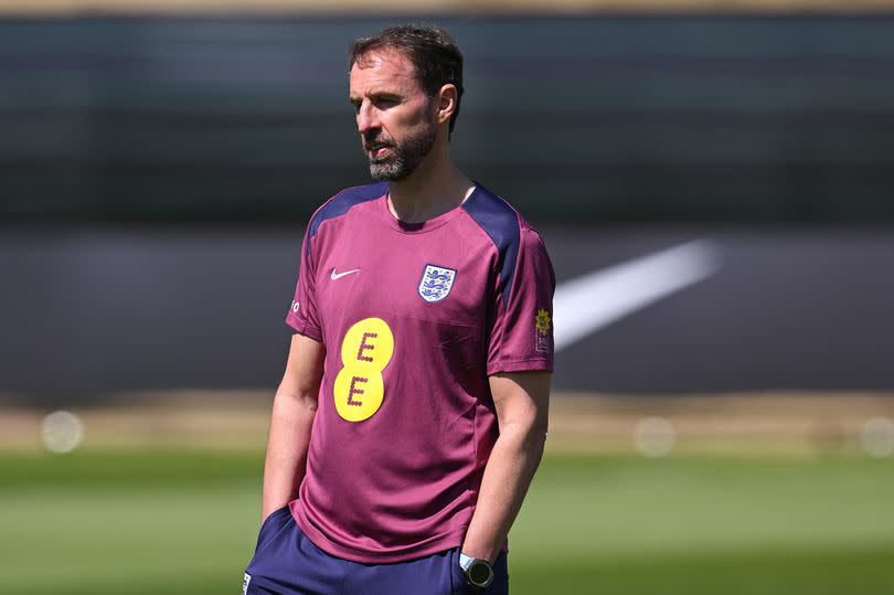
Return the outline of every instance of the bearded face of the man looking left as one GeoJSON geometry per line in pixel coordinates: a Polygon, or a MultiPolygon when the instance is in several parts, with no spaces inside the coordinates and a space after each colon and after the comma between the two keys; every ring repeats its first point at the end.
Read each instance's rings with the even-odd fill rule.
{"type": "Polygon", "coordinates": [[[402,180],[437,138],[434,102],[395,50],[370,52],[351,68],[351,104],[374,180],[402,180]]]}

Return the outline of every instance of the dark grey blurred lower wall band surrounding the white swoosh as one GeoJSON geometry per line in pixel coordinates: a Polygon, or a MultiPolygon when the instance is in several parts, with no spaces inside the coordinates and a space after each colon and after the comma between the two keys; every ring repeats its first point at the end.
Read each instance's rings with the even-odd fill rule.
{"type": "MultiPolygon", "coordinates": [[[[709,227],[542,227],[560,293],[699,237],[720,265],[560,350],[556,390],[894,392],[890,229],[709,227]]],[[[302,234],[304,223],[0,233],[0,404],[273,391],[302,234]]],[[[592,305],[626,297],[610,293],[592,305]]],[[[556,329],[576,314],[556,305],[556,329]]]]}

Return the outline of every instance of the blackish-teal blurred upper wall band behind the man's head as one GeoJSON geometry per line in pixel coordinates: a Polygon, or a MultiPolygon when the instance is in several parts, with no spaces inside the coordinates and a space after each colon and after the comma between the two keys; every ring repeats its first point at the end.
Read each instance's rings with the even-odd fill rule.
{"type": "MultiPolygon", "coordinates": [[[[302,220],[366,179],[349,41],[402,19],[0,21],[0,221],[302,220]]],[[[531,220],[894,220],[894,18],[444,18],[455,146],[531,220]]]]}

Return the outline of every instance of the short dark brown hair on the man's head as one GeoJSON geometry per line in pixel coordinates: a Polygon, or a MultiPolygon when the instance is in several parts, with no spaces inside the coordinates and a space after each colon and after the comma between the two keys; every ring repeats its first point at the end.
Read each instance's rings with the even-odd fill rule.
{"type": "Polygon", "coordinates": [[[365,54],[375,50],[393,49],[402,52],[416,68],[416,79],[429,96],[446,84],[456,86],[456,109],[450,116],[449,131],[454,131],[462,98],[462,53],[454,38],[443,28],[430,23],[400,24],[385,29],[371,38],[359,38],[348,49],[348,70],[365,54]]]}

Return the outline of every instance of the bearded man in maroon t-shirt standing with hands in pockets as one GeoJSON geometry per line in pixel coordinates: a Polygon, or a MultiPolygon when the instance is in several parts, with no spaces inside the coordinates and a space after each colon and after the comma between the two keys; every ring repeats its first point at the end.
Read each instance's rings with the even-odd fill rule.
{"type": "Polygon", "coordinates": [[[444,30],[356,40],[349,67],[380,183],[308,225],[244,591],[504,594],[546,436],[552,266],[450,159],[462,56],[444,30]]]}

